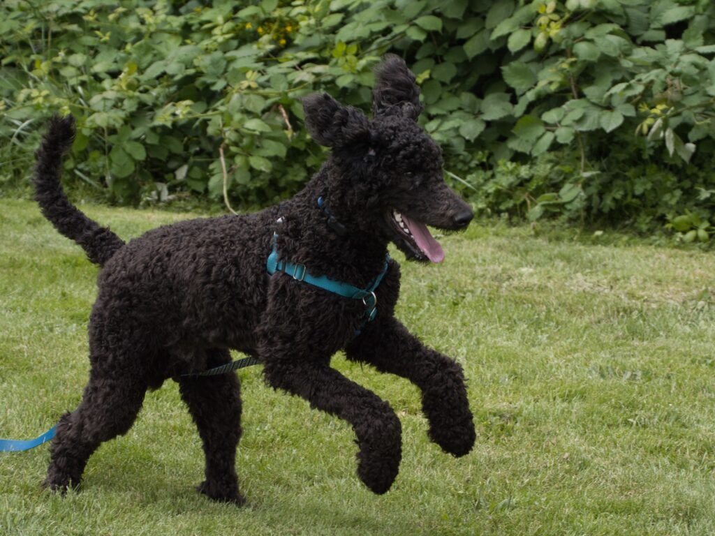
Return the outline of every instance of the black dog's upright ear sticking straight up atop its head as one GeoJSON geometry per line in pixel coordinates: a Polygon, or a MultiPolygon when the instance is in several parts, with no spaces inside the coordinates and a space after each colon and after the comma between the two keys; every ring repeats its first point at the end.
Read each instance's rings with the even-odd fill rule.
{"type": "Polygon", "coordinates": [[[420,87],[415,84],[415,75],[405,60],[395,54],[385,54],[382,63],[375,67],[373,114],[398,114],[416,121],[422,109],[420,87]]]}

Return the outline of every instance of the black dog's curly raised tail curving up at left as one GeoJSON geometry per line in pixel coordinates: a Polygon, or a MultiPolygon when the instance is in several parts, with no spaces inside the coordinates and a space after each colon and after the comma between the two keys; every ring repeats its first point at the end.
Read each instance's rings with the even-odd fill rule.
{"type": "Polygon", "coordinates": [[[71,147],[74,134],[72,116],[50,119],[47,134],[36,154],[35,199],[55,229],[82,246],[90,261],[102,266],[124,246],[124,242],[107,227],[101,227],[80,212],[64,194],[59,180],[62,157],[71,147]]]}

